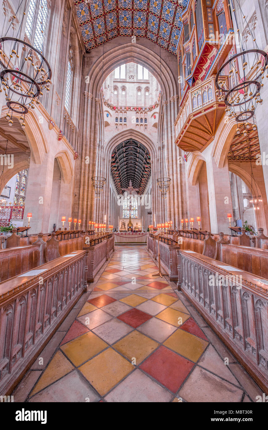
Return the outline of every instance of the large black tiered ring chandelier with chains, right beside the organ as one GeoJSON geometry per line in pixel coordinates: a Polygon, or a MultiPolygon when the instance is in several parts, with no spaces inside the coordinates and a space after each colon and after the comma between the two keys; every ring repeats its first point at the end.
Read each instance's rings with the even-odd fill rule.
{"type": "MultiPolygon", "coordinates": [[[[233,0],[230,1],[238,28],[233,0]]],[[[228,6],[230,5],[228,4],[228,6]]],[[[238,7],[241,10],[239,3],[238,7]]],[[[245,19],[243,12],[242,16],[245,19]]],[[[247,26],[249,27],[248,23],[247,26]]],[[[250,33],[252,34],[251,30],[250,33]]],[[[215,83],[217,88],[216,95],[219,101],[225,102],[225,111],[228,117],[230,119],[234,118],[237,124],[241,122],[244,123],[244,135],[246,135],[247,129],[249,129],[248,121],[252,117],[254,121],[256,107],[258,104],[262,104],[263,101],[261,98],[263,87],[262,80],[264,79],[265,70],[267,71],[268,69],[268,55],[265,51],[258,49],[257,44],[256,49],[245,50],[240,37],[239,28],[238,38],[242,48],[241,52],[232,55],[228,61],[221,66],[216,74],[215,83]]],[[[254,37],[253,41],[256,43],[254,37]]],[[[268,74],[266,77],[268,77],[268,74]]],[[[256,129],[256,124],[254,124],[253,129],[256,129]]],[[[239,127],[236,131],[237,134],[240,133],[239,127]]]]}

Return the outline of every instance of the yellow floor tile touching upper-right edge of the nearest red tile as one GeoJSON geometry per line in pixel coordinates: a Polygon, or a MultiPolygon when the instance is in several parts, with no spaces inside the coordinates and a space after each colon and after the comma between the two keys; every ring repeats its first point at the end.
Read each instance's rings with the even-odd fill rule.
{"type": "Polygon", "coordinates": [[[164,345],[189,360],[197,362],[207,347],[208,342],[184,330],[177,329],[176,332],[164,342],[164,345]]]}

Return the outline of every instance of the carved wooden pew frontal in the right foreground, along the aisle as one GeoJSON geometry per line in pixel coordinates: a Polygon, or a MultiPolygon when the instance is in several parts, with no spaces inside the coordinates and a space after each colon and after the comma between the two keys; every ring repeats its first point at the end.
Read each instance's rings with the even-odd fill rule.
{"type": "Polygon", "coordinates": [[[180,251],[179,283],[213,331],[267,393],[267,279],[197,252],[180,251]]]}

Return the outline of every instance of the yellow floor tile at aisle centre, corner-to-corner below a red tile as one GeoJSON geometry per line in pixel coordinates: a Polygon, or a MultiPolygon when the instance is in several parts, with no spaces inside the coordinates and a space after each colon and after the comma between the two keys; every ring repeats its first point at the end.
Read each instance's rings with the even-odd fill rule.
{"type": "Polygon", "coordinates": [[[129,333],[129,335],[113,345],[113,348],[131,362],[135,358],[136,362],[134,364],[140,364],[158,345],[157,342],[134,330],[134,332],[129,333]]]}

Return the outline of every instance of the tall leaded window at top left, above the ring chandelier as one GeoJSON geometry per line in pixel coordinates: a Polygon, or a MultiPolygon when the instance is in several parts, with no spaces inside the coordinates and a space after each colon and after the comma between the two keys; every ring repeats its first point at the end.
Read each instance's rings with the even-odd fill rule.
{"type": "Polygon", "coordinates": [[[30,42],[33,43],[34,47],[41,52],[43,52],[43,41],[45,41],[44,35],[46,30],[47,18],[47,1],[30,0],[25,33],[29,38],[30,42]]]}

